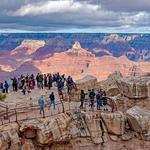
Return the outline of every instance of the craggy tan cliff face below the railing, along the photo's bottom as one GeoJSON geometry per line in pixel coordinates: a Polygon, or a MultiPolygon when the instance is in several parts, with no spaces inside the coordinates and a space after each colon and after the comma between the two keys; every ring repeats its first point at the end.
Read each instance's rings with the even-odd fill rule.
{"type": "Polygon", "coordinates": [[[143,131],[140,134],[137,130],[133,132],[127,128],[126,115],[121,112],[100,114],[77,110],[51,118],[23,121],[19,123],[19,126],[15,123],[1,126],[0,149],[148,150],[150,143],[147,140],[150,139],[141,139],[141,136],[146,135],[145,131],[150,130],[146,125],[147,112],[141,110],[132,116],[133,110],[135,108],[127,111],[128,118],[133,118],[130,118],[131,124],[140,121],[138,117],[141,115],[140,112],[144,117],[143,121],[139,122],[143,131]],[[138,143],[134,144],[136,142],[138,143]],[[144,142],[144,145],[140,145],[141,142],[144,142]]]}

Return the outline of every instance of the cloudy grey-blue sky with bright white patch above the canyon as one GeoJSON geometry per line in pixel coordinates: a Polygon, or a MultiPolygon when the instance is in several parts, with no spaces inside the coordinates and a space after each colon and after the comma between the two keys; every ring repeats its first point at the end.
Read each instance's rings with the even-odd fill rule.
{"type": "Polygon", "coordinates": [[[0,0],[0,32],[150,33],[150,0],[0,0]]]}

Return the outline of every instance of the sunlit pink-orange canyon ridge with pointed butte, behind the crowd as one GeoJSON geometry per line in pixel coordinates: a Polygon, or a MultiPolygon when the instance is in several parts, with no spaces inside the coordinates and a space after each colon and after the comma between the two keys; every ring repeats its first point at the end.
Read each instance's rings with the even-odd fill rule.
{"type": "MultiPolygon", "coordinates": [[[[7,71],[6,76],[11,73],[16,75],[15,70],[21,74],[24,73],[21,70],[21,66],[25,66],[24,70],[30,70],[30,67],[26,65],[28,63],[32,64],[34,70],[37,69],[41,73],[60,72],[72,75],[77,80],[86,75],[92,75],[97,77],[98,80],[104,80],[114,71],[120,71],[123,76],[129,76],[130,74],[140,76],[149,72],[149,62],[133,62],[125,55],[114,57],[111,52],[109,55],[98,57],[89,50],[82,48],[77,41],[71,49],[57,53],[52,53],[51,51],[48,53],[48,50],[46,54],[45,51],[42,52],[42,47],[45,44],[44,41],[37,40],[23,41],[14,50],[0,56],[1,71],[7,71]],[[6,59],[8,60],[7,62],[6,59]],[[138,69],[135,70],[134,66],[138,69]]],[[[105,49],[103,51],[106,52],[105,49]]],[[[4,77],[0,74],[0,78],[4,77]]]]}

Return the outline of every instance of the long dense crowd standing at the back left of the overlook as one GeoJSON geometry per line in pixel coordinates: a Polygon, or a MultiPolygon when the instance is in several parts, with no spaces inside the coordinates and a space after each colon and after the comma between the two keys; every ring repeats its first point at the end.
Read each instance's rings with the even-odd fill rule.
{"type": "MultiPolygon", "coordinates": [[[[24,95],[26,93],[30,93],[35,88],[35,86],[37,86],[37,88],[39,89],[47,88],[50,90],[53,86],[53,83],[55,83],[59,91],[61,91],[66,85],[68,92],[70,92],[74,85],[74,81],[71,76],[68,76],[66,78],[64,74],[60,75],[59,73],[38,73],[36,76],[34,76],[33,74],[27,74],[26,76],[21,75],[18,78],[11,78],[11,81],[12,90],[14,92],[21,90],[24,95]]],[[[8,81],[0,82],[0,93],[8,93],[9,87],[10,84],[8,83],[8,81]]]]}

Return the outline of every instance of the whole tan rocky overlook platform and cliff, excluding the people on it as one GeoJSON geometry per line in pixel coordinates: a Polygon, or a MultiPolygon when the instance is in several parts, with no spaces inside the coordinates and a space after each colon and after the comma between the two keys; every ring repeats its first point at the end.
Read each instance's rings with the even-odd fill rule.
{"type": "Polygon", "coordinates": [[[86,76],[76,81],[69,99],[61,99],[55,86],[26,95],[11,92],[0,108],[0,150],[149,150],[149,79],[123,78],[119,72],[101,82],[86,76]],[[92,88],[106,91],[107,111],[96,109],[96,99],[90,108],[87,95],[79,107],[81,89],[92,88]],[[56,109],[48,108],[52,91],[56,109]],[[40,95],[46,100],[44,115],[37,105],[40,95]]]}

